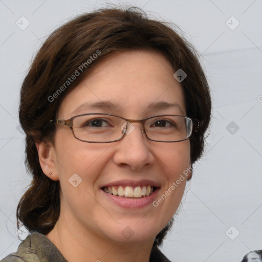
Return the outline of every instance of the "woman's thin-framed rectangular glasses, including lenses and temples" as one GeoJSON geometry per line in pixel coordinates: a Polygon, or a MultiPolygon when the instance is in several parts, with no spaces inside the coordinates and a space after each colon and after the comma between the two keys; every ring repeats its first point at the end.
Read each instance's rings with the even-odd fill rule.
{"type": "Polygon", "coordinates": [[[53,119],[50,122],[70,127],[76,139],[89,143],[117,142],[135,129],[133,122],[141,123],[142,133],[156,142],[186,140],[192,135],[193,129],[197,132],[200,127],[199,120],[178,115],[125,119],[112,114],[92,113],[77,115],[67,120],[53,119]]]}

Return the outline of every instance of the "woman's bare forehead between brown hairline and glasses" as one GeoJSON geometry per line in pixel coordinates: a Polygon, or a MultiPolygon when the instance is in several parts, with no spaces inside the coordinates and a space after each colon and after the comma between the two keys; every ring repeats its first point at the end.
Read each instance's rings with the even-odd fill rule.
{"type": "Polygon", "coordinates": [[[169,61],[154,51],[112,54],[91,68],[64,98],[58,115],[69,118],[103,110],[102,113],[136,118],[143,112],[164,109],[164,106],[152,106],[161,103],[176,104],[173,114],[185,115],[182,85],[173,77],[174,72],[169,61]],[[90,107],[91,104],[99,104],[100,108],[90,107]]]}

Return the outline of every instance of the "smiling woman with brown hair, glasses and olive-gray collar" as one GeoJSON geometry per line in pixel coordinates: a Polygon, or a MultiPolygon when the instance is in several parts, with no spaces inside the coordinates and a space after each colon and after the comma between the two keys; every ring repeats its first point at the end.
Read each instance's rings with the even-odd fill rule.
{"type": "Polygon", "coordinates": [[[191,45],[136,9],[83,14],[43,43],[20,95],[31,234],[2,261],[169,261],[158,247],[211,111],[191,45]]]}

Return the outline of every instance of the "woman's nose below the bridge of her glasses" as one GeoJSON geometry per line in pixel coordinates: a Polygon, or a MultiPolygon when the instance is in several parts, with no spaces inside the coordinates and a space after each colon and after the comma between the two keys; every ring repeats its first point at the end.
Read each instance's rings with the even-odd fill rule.
{"type": "Polygon", "coordinates": [[[133,170],[141,170],[154,163],[152,145],[143,132],[141,123],[129,123],[124,137],[116,142],[113,161],[119,166],[128,166],[133,170]]]}

